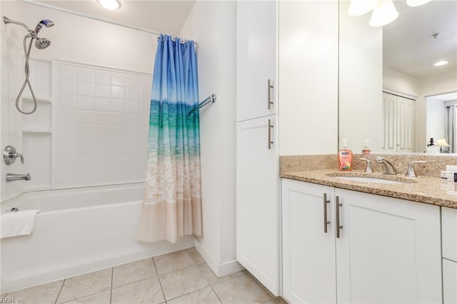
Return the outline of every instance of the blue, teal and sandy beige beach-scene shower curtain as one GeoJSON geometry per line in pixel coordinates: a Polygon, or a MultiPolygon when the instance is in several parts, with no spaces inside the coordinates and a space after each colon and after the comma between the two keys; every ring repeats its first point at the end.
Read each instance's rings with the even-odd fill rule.
{"type": "Polygon", "coordinates": [[[201,235],[199,103],[194,41],[161,35],[152,81],[149,146],[138,240],[201,235]]]}

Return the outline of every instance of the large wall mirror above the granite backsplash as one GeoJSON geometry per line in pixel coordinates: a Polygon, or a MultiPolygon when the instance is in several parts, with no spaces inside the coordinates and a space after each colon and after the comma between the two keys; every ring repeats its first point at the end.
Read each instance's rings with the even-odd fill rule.
{"type": "Polygon", "coordinates": [[[447,120],[457,103],[457,1],[395,0],[398,18],[381,27],[368,25],[371,12],[348,16],[349,4],[340,0],[339,146],[347,138],[354,153],[366,141],[372,153],[456,153],[447,120]]]}

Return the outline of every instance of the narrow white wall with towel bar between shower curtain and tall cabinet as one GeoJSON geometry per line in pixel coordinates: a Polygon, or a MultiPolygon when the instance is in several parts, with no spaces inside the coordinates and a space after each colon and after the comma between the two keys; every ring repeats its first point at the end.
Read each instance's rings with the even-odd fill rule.
{"type": "Polygon", "coordinates": [[[236,262],[236,2],[196,1],[180,32],[197,45],[199,94],[217,101],[200,111],[203,235],[196,248],[216,275],[236,262]]]}

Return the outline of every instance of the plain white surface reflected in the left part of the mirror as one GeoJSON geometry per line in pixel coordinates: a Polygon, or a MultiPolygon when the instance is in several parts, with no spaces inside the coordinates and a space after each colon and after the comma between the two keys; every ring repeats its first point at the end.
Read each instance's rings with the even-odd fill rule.
{"type": "Polygon", "coordinates": [[[382,28],[368,26],[371,14],[348,16],[349,1],[340,1],[339,136],[354,153],[365,140],[371,151],[383,146],[382,28]]]}

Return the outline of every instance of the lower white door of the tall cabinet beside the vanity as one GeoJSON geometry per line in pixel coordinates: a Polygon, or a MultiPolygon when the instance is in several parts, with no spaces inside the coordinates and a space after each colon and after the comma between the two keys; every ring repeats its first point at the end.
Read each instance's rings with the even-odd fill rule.
{"type": "Polygon", "coordinates": [[[278,295],[276,129],[276,115],[237,123],[236,258],[271,293],[278,295]]]}

